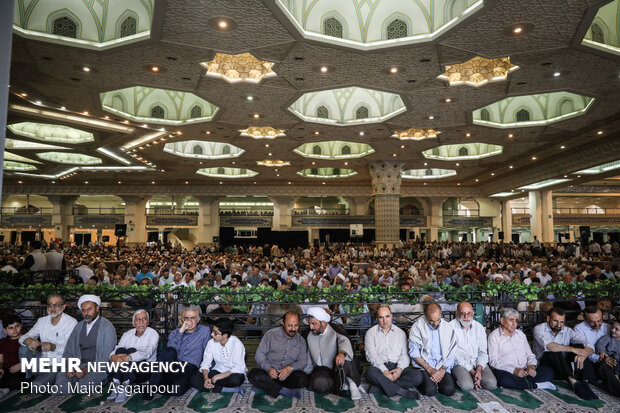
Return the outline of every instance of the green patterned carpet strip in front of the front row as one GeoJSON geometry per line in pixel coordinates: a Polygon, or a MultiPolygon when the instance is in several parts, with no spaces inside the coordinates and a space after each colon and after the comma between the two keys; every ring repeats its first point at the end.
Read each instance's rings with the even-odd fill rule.
{"type": "Polygon", "coordinates": [[[152,401],[134,395],[123,404],[106,402],[107,395],[64,396],[22,395],[13,392],[0,401],[0,412],[253,412],[253,413],[384,413],[384,412],[620,412],[620,399],[593,387],[599,400],[585,401],[577,398],[568,385],[555,382],[555,391],[516,391],[497,389],[472,393],[457,392],[452,397],[437,395],[415,401],[400,397],[388,398],[380,394],[363,394],[362,400],[333,395],[314,394],[302,390],[300,399],[278,396],[273,399],[265,393],[255,393],[247,384],[242,393],[197,393],[192,390],[180,397],[156,397],[152,401]]]}

